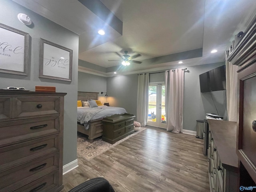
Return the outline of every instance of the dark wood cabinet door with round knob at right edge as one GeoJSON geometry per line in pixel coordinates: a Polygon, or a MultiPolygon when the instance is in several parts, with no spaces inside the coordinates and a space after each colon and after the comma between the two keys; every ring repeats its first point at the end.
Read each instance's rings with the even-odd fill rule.
{"type": "Polygon", "coordinates": [[[256,64],[239,74],[238,156],[256,182],[256,64]]]}

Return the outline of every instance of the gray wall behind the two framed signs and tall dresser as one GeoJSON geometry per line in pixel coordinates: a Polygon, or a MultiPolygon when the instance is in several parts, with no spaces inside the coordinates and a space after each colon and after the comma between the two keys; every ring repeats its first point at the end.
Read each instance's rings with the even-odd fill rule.
{"type": "Polygon", "coordinates": [[[30,62],[28,76],[0,73],[0,88],[8,86],[25,87],[34,91],[35,86],[55,86],[56,92],[66,92],[64,103],[64,155],[63,164],[76,160],[76,100],[78,71],[78,35],[51,22],[50,20],[16,4],[10,0],[1,0],[0,23],[30,34],[30,62]],[[27,14],[32,26],[22,24],[17,15],[27,14]],[[44,38],[73,50],[72,82],[38,78],[39,40],[44,38]]]}

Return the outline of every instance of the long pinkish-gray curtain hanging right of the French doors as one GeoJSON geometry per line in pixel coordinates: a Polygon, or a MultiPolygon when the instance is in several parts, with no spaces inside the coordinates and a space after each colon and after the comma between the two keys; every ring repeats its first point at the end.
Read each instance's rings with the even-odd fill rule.
{"type": "Polygon", "coordinates": [[[165,71],[164,84],[167,131],[182,132],[184,70],[165,71]]]}

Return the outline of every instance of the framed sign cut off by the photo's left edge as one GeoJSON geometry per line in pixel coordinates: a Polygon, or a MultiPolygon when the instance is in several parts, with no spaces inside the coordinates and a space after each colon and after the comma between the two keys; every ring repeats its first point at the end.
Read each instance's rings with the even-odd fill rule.
{"type": "Polygon", "coordinates": [[[28,76],[29,34],[0,23],[0,73],[28,76]]]}

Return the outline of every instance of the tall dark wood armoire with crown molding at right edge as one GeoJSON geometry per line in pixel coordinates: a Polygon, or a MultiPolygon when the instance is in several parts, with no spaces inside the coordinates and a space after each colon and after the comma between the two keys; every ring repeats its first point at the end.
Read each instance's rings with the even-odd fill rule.
{"type": "Polygon", "coordinates": [[[244,33],[228,57],[240,66],[236,153],[241,191],[246,190],[243,187],[256,187],[256,17],[244,33]]]}

